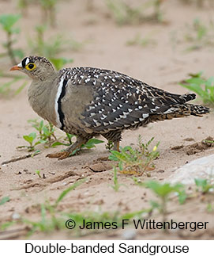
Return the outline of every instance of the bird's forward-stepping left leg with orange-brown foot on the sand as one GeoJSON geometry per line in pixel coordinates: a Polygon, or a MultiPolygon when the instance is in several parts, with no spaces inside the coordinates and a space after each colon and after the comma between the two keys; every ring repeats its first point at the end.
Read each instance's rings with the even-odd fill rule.
{"type": "Polygon", "coordinates": [[[87,143],[88,139],[91,139],[91,138],[77,137],[77,141],[73,143],[71,146],[67,147],[65,151],[48,154],[46,155],[46,157],[50,159],[58,159],[58,160],[66,159],[69,157],[69,155],[72,154],[73,151],[77,149],[81,149],[81,145],[84,143],[87,143]]]}

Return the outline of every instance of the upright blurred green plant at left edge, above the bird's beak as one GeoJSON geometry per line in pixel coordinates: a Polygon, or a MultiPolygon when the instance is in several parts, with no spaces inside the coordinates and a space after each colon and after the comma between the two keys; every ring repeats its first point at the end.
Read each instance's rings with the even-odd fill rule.
{"type": "MultiPolygon", "coordinates": [[[[16,42],[16,40],[13,40],[13,36],[20,32],[20,29],[14,28],[14,25],[16,25],[20,18],[21,15],[18,14],[2,14],[0,16],[0,24],[2,25],[3,31],[6,32],[6,42],[2,45],[4,48],[6,48],[7,55],[9,55],[13,65],[17,64],[16,56],[19,57],[19,59],[23,58],[24,56],[21,49],[13,48],[13,44],[16,42]]],[[[4,55],[6,54],[2,54],[1,56],[4,55]]]]}

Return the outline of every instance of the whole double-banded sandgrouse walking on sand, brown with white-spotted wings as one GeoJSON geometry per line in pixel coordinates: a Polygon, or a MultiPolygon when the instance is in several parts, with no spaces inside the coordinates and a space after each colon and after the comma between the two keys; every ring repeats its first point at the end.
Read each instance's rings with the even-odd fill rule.
{"type": "Polygon", "coordinates": [[[65,151],[47,155],[66,159],[88,139],[103,136],[119,151],[122,132],[174,117],[202,117],[203,105],[186,103],[196,94],[171,94],[145,82],[96,67],[54,69],[45,57],[30,55],[10,71],[32,78],[28,101],[43,119],[63,132],[77,136],[65,151]]]}

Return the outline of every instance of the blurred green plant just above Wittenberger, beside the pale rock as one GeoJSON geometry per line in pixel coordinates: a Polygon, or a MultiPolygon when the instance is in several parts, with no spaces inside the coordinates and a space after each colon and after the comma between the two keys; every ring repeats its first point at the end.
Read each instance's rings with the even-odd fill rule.
{"type": "Polygon", "coordinates": [[[152,201],[151,204],[153,208],[159,209],[163,222],[167,220],[167,201],[171,193],[176,193],[178,195],[180,204],[183,204],[184,201],[186,201],[186,192],[184,190],[184,186],[180,183],[171,185],[170,183],[161,184],[158,181],[140,182],[137,181],[137,178],[133,178],[133,181],[135,181],[137,185],[151,189],[152,192],[160,198],[160,202],[152,201]]]}

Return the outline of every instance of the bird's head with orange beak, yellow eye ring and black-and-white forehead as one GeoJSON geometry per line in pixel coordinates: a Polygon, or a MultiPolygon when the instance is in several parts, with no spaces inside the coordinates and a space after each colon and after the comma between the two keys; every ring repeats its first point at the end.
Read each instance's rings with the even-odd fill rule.
{"type": "Polygon", "coordinates": [[[21,71],[33,80],[45,80],[55,72],[51,62],[45,57],[39,56],[25,57],[21,63],[11,67],[10,71],[21,71]]]}

